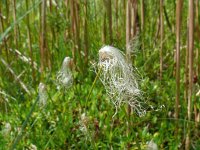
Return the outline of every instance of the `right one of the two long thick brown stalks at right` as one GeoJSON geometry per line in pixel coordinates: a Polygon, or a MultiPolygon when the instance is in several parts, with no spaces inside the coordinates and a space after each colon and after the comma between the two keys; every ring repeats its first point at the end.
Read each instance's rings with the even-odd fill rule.
{"type": "MultiPolygon", "coordinates": [[[[191,120],[191,113],[192,113],[192,94],[193,94],[193,48],[194,48],[194,1],[189,0],[189,22],[188,22],[188,29],[189,29],[189,87],[188,87],[188,120],[191,120]]],[[[190,149],[190,127],[188,124],[188,131],[186,135],[186,142],[185,142],[185,149],[190,149]]]]}

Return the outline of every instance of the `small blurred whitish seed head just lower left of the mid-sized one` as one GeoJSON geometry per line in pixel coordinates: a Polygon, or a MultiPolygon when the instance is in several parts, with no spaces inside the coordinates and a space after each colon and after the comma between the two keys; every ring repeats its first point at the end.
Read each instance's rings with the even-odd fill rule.
{"type": "Polygon", "coordinates": [[[39,102],[38,102],[39,106],[43,107],[46,105],[48,98],[46,85],[44,83],[39,84],[38,93],[39,93],[39,102]]]}

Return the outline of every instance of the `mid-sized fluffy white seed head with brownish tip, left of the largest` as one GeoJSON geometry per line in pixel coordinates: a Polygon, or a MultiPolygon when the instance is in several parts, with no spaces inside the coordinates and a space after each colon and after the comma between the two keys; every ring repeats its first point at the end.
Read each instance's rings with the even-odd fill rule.
{"type": "Polygon", "coordinates": [[[73,76],[70,68],[71,62],[72,60],[70,57],[65,57],[63,60],[62,67],[57,74],[57,89],[61,89],[62,87],[68,89],[72,86],[73,76]]]}

